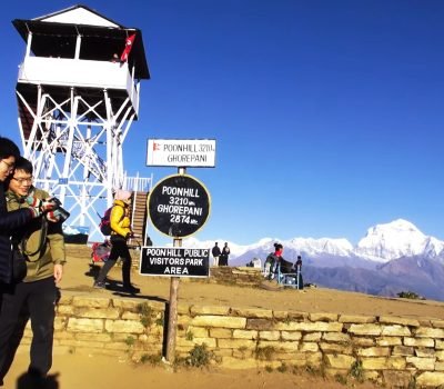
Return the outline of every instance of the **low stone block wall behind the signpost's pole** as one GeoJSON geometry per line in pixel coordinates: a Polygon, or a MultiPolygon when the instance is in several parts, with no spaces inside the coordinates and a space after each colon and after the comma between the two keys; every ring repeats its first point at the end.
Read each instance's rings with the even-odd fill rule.
{"type": "MultiPolygon", "coordinates": [[[[63,297],[54,352],[105,353],[138,361],[161,356],[165,305],[122,298],[63,297]]],[[[21,347],[30,341],[29,326],[21,347]]],[[[232,369],[351,370],[390,387],[444,383],[444,320],[179,306],[176,353],[205,343],[232,369]]],[[[24,345],[24,346],[23,346],[24,345]]]]}

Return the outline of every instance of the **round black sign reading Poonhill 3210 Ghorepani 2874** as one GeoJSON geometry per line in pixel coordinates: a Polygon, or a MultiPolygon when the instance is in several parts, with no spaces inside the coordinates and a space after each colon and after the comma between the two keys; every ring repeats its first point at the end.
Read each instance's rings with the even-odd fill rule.
{"type": "Polygon", "coordinates": [[[210,215],[210,194],[202,182],[188,174],[169,176],[148,198],[152,225],[169,237],[193,235],[210,215]]]}

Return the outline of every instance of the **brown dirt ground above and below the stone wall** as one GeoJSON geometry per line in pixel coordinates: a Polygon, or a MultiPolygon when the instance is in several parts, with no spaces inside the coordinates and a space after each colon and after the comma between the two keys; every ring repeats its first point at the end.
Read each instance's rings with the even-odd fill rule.
{"type": "MultiPolygon", "coordinates": [[[[114,267],[109,275],[111,289],[92,288],[97,269],[90,267],[90,250],[84,247],[68,248],[68,263],[60,283],[62,295],[88,295],[115,297],[124,296],[120,291],[121,270],[114,267]]],[[[132,275],[141,292],[131,298],[140,300],[169,300],[170,279],[132,275]]],[[[310,282],[310,280],[306,280],[310,282]]],[[[128,298],[130,296],[125,296],[128,298]]],[[[362,293],[343,292],[333,289],[313,288],[297,291],[264,290],[235,286],[221,286],[193,282],[181,279],[179,305],[205,305],[251,307],[274,310],[304,312],[335,312],[371,316],[403,316],[408,318],[434,318],[444,320],[444,302],[416,301],[393,298],[372,297],[362,293]]],[[[4,379],[7,389],[30,389],[21,383],[20,376],[27,370],[28,353],[16,357],[12,368],[4,379]]],[[[216,367],[210,369],[180,369],[173,371],[169,366],[134,366],[124,358],[54,355],[53,367],[47,385],[50,389],[107,388],[120,389],[124,382],[129,388],[208,388],[213,389],[253,389],[253,388],[344,388],[333,379],[324,380],[319,375],[307,372],[266,372],[256,370],[231,371],[216,367]]],[[[347,386],[373,388],[371,383],[359,385],[349,379],[347,386]]]]}

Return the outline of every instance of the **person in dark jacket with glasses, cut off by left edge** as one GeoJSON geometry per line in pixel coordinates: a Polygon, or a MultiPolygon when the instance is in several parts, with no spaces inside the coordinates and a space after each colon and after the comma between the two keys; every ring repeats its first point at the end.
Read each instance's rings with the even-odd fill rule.
{"type": "Polygon", "coordinates": [[[12,281],[12,231],[42,213],[41,203],[37,202],[32,203],[36,207],[8,213],[4,181],[13,172],[16,159],[19,157],[20,150],[17,144],[8,138],[0,137],[0,307],[3,289],[12,281]]]}

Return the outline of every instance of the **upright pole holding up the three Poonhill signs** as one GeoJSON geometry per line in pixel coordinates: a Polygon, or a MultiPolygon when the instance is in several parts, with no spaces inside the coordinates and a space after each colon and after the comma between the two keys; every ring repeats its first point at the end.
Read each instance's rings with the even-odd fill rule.
{"type": "MultiPolygon", "coordinates": [[[[185,168],[178,169],[179,174],[185,173],[185,168]]],[[[182,239],[173,239],[173,247],[182,247],[182,239]]],[[[170,307],[168,318],[168,336],[167,336],[167,361],[174,362],[175,359],[175,338],[178,332],[178,291],[180,277],[171,277],[170,281],[170,307]]]]}

